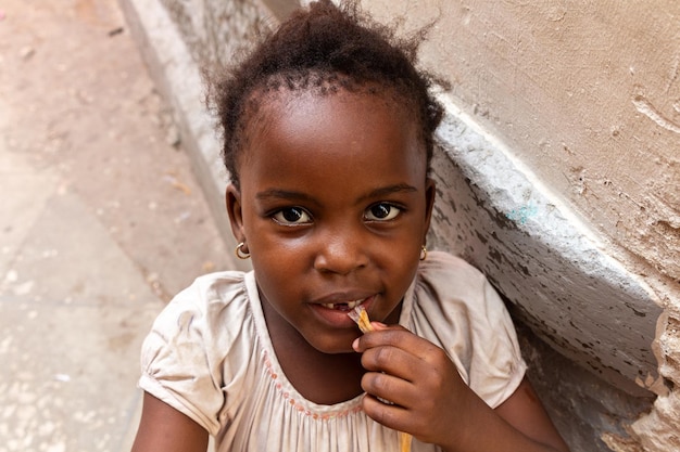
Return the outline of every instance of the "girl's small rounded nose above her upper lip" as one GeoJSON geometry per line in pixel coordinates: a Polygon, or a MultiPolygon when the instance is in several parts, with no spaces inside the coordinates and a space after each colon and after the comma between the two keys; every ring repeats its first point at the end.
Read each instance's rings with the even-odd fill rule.
{"type": "Polygon", "coordinates": [[[368,259],[362,241],[356,236],[328,234],[319,237],[314,268],[323,273],[347,275],[366,267],[368,259]]]}

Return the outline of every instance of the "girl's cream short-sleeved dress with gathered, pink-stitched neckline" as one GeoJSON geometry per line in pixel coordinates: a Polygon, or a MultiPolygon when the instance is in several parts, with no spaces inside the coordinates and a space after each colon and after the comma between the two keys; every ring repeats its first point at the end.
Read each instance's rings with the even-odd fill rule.
{"type": "MultiPolygon", "coordinates": [[[[458,258],[428,254],[400,323],[442,347],[492,408],[521,382],[526,364],[505,307],[458,258]]],[[[178,294],[153,324],[141,361],[140,387],[202,425],[219,452],[399,451],[396,431],[366,416],[361,396],[319,405],[291,386],[252,272],[201,276],[178,294]]],[[[413,452],[437,450],[413,441],[413,452]]]]}

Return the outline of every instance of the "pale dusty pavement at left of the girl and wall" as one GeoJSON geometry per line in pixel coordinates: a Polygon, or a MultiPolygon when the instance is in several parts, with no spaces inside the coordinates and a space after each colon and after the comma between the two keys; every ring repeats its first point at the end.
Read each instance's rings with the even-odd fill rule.
{"type": "Polygon", "coordinates": [[[139,346],[232,268],[115,0],[0,1],[0,452],[127,451],[139,346]]]}

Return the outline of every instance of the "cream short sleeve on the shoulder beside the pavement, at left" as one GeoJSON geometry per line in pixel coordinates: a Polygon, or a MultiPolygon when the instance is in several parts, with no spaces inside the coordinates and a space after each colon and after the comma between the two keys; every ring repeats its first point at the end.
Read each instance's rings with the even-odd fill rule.
{"type": "Polygon", "coordinates": [[[153,323],[142,345],[139,386],[216,435],[227,395],[238,392],[229,385],[242,382],[232,362],[247,362],[225,357],[236,348],[242,358],[252,348],[242,344],[248,312],[242,273],[199,277],[153,323]]]}

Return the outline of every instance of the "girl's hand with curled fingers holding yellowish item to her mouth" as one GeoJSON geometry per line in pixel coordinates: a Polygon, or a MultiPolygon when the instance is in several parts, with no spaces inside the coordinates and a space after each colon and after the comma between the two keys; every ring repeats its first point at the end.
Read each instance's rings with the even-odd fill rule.
{"type": "Polygon", "coordinates": [[[354,343],[368,371],[362,378],[366,414],[420,441],[442,447],[456,442],[453,426],[468,411],[471,391],[453,362],[441,348],[402,326],[372,325],[375,331],[354,343]]]}

